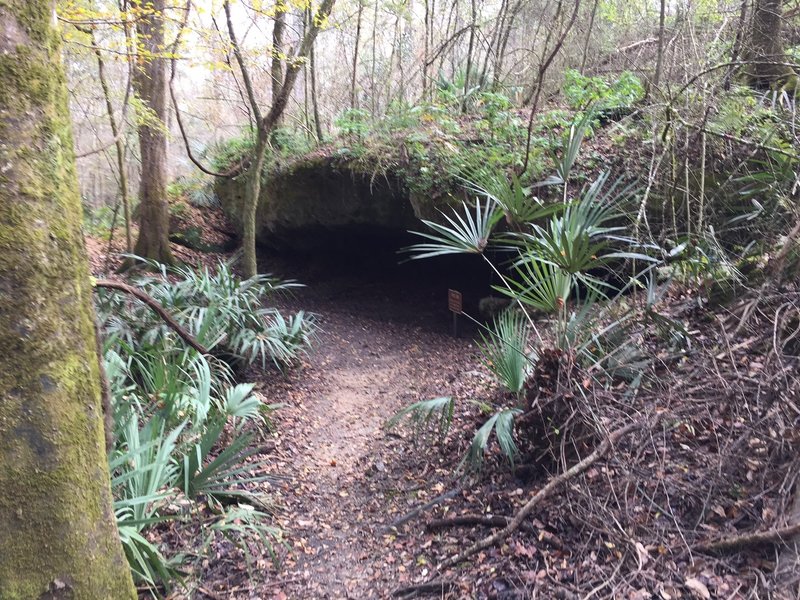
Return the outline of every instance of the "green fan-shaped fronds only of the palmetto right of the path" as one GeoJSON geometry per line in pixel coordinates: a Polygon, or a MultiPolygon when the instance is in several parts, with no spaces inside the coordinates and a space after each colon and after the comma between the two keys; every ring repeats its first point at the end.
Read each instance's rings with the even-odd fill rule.
{"type": "MultiPolygon", "coordinates": [[[[521,412],[521,392],[537,361],[536,352],[529,347],[533,325],[527,312],[530,309],[553,316],[554,346],[570,349],[593,367],[619,372],[620,366],[641,362],[631,344],[613,341],[612,333],[625,324],[625,319],[597,332],[591,318],[595,312],[592,306],[607,299],[612,289],[604,274],[623,262],[648,269],[657,262],[647,254],[649,248],[626,233],[626,208],[636,194],[634,186],[622,179],[610,181],[609,173],[604,172],[577,199],[569,197],[570,173],[593,119],[594,114],[588,111],[569,128],[561,151],[553,156],[556,172],[538,184],[525,187],[516,175],[509,178],[486,166],[468,167],[464,187],[477,196],[474,207],[465,202],[453,217],[443,215],[441,222],[425,221],[431,231],[413,233],[426,241],[407,249],[412,258],[480,254],[500,278],[494,289],[514,301],[511,309],[485,328],[480,347],[484,364],[516,396],[516,405],[491,410],[465,457],[471,465],[480,464],[492,432],[510,461],[516,454],[514,418],[521,412]],[[547,204],[532,193],[550,186],[562,186],[560,201],[547,204]],[[497,231],[503,216],[507,226],[497,231]],[[510,255],[506,274],[490,260],[490,248],[510,255]]],[[[409,415],[418,425],[425,424],[432,411],[442,408],[436,401],[419,402],[390,423],[409,415]]]]}

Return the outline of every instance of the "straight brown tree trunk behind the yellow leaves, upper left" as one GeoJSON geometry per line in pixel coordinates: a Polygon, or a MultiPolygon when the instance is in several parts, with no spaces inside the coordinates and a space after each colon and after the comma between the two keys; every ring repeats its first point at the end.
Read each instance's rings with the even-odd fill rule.
{"type": "Polygon", "coordinates": [[[135,254],[172,264],[167,202],[167,65],[164,46],[165,0],[135,0],[136,69],[133,85],[149,114],[140,115],[139,238],[135,254]]]}

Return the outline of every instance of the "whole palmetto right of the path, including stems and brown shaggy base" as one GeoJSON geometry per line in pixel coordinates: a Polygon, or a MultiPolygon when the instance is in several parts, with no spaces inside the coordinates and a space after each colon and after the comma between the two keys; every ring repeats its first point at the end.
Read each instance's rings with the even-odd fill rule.
{"type": "MultiPolygon", "coordinates": [[[[478,197],[474,208],[464,203],[463,211],[444,214],[443,224],[425,221],[430,232],[418,235],[426,241],[407,249],[414,259],[481,255],[497,275],[494,290],[511,302],[480,334],[483,364],[507,397],[499,405],[481,407],[488,418],[465,456],[469,467],[481,465],[492,434],[513,465],[518,419],[535,416],[543,428],[536,434],[544,439],[525,441],[549,442],[551,451],[559,439],[577,441],[571,431],[576,427],[597,430],[599,437],[600,423],[592,422],[591,411],[582,414],[581,398],[585,402],[595,385],[608,388],[620,378],[635,394],[649,363],[643,342],[654,335],[654,328],[672,350],[688,344],[683,325],[656,312],[682,260],[679,252],[673,253],[673,266],[659,274],[669,253],[632,235],[639,190],[621,178],[612,180],[605,171],[576,198],[569,195],[570,176],[594,117],[590,111],[568,129],[557,172],[537,186],[560,188],[561,203],[545,204],[517,178],[509,182],[491,167],[483,168],[465,181],[478,197]],[[624,275],[609,277],[614,272],[624,275]],[[644,301],[626,306],[624,299],[639,288],[646,289],[644,301]],[[562,366],[567,369],[563,379],[562,366]],[[550,385],[566,386],[575,394],[578,414],[568,415],[570,408],[542,397],[550,385]]],[[[440,411],[440,430],[446,433],[453,413],[453,400],[446,400],[417,403],[400,416],[410,414],[420,421],[440,411]]]]}

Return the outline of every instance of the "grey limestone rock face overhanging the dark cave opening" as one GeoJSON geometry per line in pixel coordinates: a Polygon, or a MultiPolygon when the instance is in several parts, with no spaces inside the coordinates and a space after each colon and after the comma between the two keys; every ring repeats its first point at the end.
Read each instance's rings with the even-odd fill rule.
{"type": "MultiPolygon", "coordinates": [[[[278,250],[313,251],[350,235],[397,235],[421,230],[420,215],[402,181],[368,174],[332,159],[302,162],[265,175],[256,239],[278,250]]],[[[244,181],[221,180],[217,195],[241,229],[244,181]]]]}

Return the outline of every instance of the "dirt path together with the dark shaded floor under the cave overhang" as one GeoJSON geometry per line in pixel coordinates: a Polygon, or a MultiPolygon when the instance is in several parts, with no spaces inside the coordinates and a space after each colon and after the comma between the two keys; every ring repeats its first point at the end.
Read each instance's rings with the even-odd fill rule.
{"type": "Polygon", "coordinates": [[[471,396],[486,377],[476,370],[473,342],[449,330],[446,285],[412,294],[408,280],[365,278],[320,281],[317,273],[283,306],[318,316],[316,349],[286,376],[243,378],[259,380],[265,402],[285,404],[273,417],[272,457],[286,479],[265,491],[288,550],[277,569],[265,562],[261,583],[248,581],[241,563],[229,565],[235,572],[209,573],[203,588],[213,595],[206,597],[385,598],[432,573],[406,547],[411,540],[398,541],[387,525],[445,491],[454,457],[385,424],[443,391],[471,396]]]}

